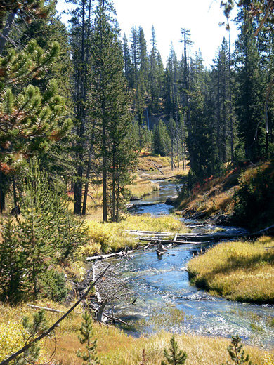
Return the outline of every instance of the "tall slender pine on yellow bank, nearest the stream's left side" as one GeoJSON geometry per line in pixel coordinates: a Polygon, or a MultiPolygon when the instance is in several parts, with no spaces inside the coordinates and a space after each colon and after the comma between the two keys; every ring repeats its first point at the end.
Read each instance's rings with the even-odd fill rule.
{"type": "Polygon", "coordinates": [[[125,173],[132,161],[129,159],[132,155],[131,143],[127,142],[130,140],[131,114],[123,75],[122,48],[118,41],[117,27],[111,23],[108,15],[111,12],[113,8],[108,1],[98,1],[92,42],[92,117],[96,119],[101,131],[99,147],[103,160],[103,221],[107,220],[109,199],[112,220],[117,219],[114,212],[117,212],[117,204],[122,196],[121,188],[126,183],[125,173]]]}

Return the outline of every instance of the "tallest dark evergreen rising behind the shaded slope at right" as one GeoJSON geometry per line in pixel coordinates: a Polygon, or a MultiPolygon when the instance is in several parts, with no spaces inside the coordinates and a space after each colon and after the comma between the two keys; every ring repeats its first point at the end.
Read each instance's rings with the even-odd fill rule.
{"type": "Polygon", "coordinates": [[[240,16],[241,33],[236,42],[235,67],[237,81],[236,113],[238,134],[243,143],[246,159],[255,161],[263,153],[264,133],[260,121],[263,118],[262,79],[260,57],[253,38],[254,29],[244,9],[240,16]],[[259,126],[259,127],[257,127],[259,126]]]}

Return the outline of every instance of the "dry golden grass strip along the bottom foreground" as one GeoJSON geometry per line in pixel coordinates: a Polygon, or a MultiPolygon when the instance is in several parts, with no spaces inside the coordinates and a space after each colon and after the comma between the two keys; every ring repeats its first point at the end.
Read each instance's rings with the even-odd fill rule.
{"type": "MultiPolygon", "coordinates": [[[[54,303],[39,303],[40,305],[55,306],[60,310],[65,307],[54,303]]],[[[6,325],[7,336],[8,328],[12,330],[18,327],[22,317],[30,314],[32,310],[26,306],[21,307],[0,307],[0,323],[6,325]],[[7,326],[8,325],[8,326],[7,326]]],[[[80,310],[77,310],[77,312],[80,310]]],[[[60,314],[46,312],[49,324],[53,323],[60,317],[60,314]]],[[[61,322],[56,330],[57,349],[54,357],[54,364],[58,365],[80,365],[82,360],[77,358],[76,352],[80,345],[77,338],[79,326],[81,325],[81,315],[77,313],[70,314],[70,317],[61,322]]],[[[127,336],[123,331],[117,328],[110,328],[93,324],[94,338],[98,340],[98,359],[102,365],[139,365],[141,364],[142,352],[145,349],[147,358],[146,365],[160,364],[163,357],[164,348],[169,348],[170,333],[161,332],[148,338],[133,338],[127,336]]],[[[14,333],[12,334],[12,336],[14,333]]],[[[6,339],[8,337],[6,336],[6,339]]],[[[188,353],[188,359],[185,364],[191,365],[220,365],[228,360],[227,347],[230,340],[223,338],[207,338],[202,336],[177,335],[176,341],[178,347],[188,353]]],[[[5,339],[0,335],[0,348],[4,348],[5,339]]],[[[9,350],[14,351],[20,348],[20,341],[13,341],[9,350]]],[[[43,347],[41,361],[46,361],[46,357],[53,350],[53,343],[47,340],[43,347]]],[[[273,365],[273,354],[259,350],[256,347],[244,346],[244,350],[250,354],[250,357],[257,365],[273,365]]],[[[4,352],[3,352],[4,353],[4,352]]],[[[0,360],[3,359],[0,352],[0,360]]],[[[41,361],[38,364],[41,364],[41,361]]]]}

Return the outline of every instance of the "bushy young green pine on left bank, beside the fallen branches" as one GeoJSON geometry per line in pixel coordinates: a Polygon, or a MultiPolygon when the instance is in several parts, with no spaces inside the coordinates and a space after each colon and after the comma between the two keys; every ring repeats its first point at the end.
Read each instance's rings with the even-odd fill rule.
{"type": "MultiPolygon", "coordinates": [[[[85,227],[68,212],[59,180],[51,179],[50,182],[48,174],[39,170],[37,161],[30,161],[19,188],[22,217],[18,218],[16,233],[24,258],[23,270],[29,294],[37,297],[43,293],[42,296],[61,300],[58,283],[59,286],[64,283],[56,274],[56,265],[86,242],[85,227]],[[47,291],[47,283],[49,288],[54,283],[56,293],[47,291]]],[[[65,291],[62,293],[64,296],[65,291]]]]}

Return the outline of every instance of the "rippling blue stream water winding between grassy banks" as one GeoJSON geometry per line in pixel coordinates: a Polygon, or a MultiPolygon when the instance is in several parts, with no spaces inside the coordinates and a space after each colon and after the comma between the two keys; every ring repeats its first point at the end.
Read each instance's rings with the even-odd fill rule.
{"type": "MultiPolygon", "coordinates": [[[[176,185],[159,183],[161,190],[135,201],[133,214],[168,214],[171,206],[162,202],[176,195],[176,185]],[[139,206],[141,203],[157,203],[139,206]]],[[[185,223],[190,223],[186,221],[185,223]]],[[[202,227],[214,230],[214,226],[202,227]]],[[[226,232],[239,230],[237,227],[223,227],[226,232]]],[[[201,228],[197,227],[195,231],[201,228]]],[[[190,285],[186,267],[193,257],[193,251],[203,244],[188,244],[169,248],[171,255],[158,257],[155,248],[136,251],[120,262],[120,270],[129,286],[136,292],[134,304],[119,303],[115,306],[117,315],[132,323],[127,332],[140,336],[159,329],[174,332],[191,332],[208,336],[238,334],[247,343],[261,347],[274,345],[274,306],[235,303],[190,285]]],[[[113,260],[115,263],[115,260],[113,260]]],[[[117,261],[116,261],[117,262],[117,261]]]]}

